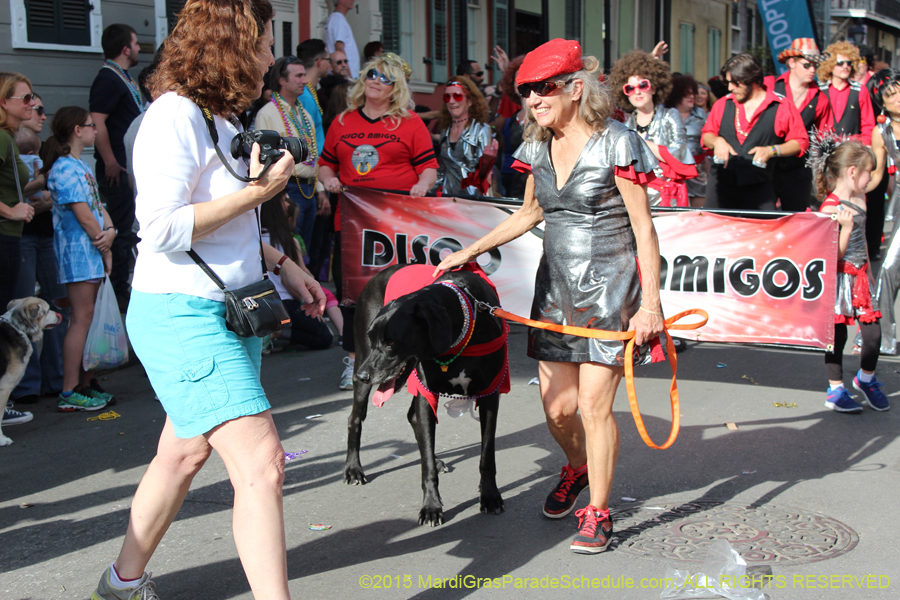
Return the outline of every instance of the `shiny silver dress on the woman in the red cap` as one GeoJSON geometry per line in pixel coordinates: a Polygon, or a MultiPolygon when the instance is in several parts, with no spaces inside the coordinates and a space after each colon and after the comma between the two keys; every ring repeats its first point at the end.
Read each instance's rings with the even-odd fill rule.
{"type": "MultiPolygon", "coordinates": [[[[531,318],[560,325],[626,331],[641,303],[637,246],[614,167],[649,173],[656,158],[640,137],[607,119],[588,141],[562,189],[550,142],[526,142],[515,158],[531,166],[534,194],[544,211],[544,255],[534,283],[531,318]]],[[[530,329],[528,355],[557,362],[624,365],[621,341],[530,329]]],[[[643,362],[646,346],[641,356],[643,362]]]]}

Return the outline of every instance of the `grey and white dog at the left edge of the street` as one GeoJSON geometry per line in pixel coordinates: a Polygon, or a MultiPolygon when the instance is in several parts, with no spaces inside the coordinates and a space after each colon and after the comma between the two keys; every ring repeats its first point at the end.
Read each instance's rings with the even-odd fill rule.
{"type": "MultiPolygon", "coordinates": [[[[9,395],[25,375],[32,342],[40,345],[44,330],[61,320],[62,316],[50,310],[50,305],[40,298],[13,300],[0,316],[0,414],[6,410],[9,395]]],[[[12,440],[0,429],[0,446],[10,444],[12,440]]]]}

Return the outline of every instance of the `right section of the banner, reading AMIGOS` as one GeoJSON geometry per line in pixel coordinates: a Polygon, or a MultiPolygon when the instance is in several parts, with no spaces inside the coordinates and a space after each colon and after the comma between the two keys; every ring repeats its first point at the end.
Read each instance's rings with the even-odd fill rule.
{"type": "Polygon", "coordinates": [[[838,226],[830,215],[743,219],[682,212],[653,219],[667,315],[709,313],[686,339],[827,349],[834,344],[838,226]]]}

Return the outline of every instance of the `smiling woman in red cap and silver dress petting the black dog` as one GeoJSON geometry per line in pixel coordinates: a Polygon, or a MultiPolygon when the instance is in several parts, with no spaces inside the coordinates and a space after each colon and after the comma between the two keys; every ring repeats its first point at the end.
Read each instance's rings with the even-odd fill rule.
{"type": "Polygon", "coordinates": [[[612,406],[625,361],[650,360],[651,341],[653,358],[662,359],[659,244],[646,187],[657,161],[637,132],[609,118],[614,103],[599,74],[599,61],[583,57],[577,41],[555,39],[528,53],[516,74],[528,107],[514,163],[529,173],[522,208],[435,270],[474,261],[543,221],[531,318],[635,331],[641,351],[634,357],[621,342],[528,332],[547,425],[568,460],[543,514],[565,517],[590,486],[570,544],[582,554],[602,552],[612,539],[609,494],[619,452],[612,406]]]}

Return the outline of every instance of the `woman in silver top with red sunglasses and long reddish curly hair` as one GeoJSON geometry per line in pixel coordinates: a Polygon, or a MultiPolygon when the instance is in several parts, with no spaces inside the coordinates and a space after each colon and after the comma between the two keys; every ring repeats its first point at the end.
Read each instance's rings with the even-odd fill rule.
{"type": "Polygon", "coordinates": [[[471,79],[457,77],[447,82],[438,117],[441,152],[435,184],[435,189],[443,186],[445,196],[487,192],[488,176],[497,156],[497,141],[487,123],[488,112],[484,96],[471,79]],[[464,180],[471,185],[465,185],[464,180]]]}

